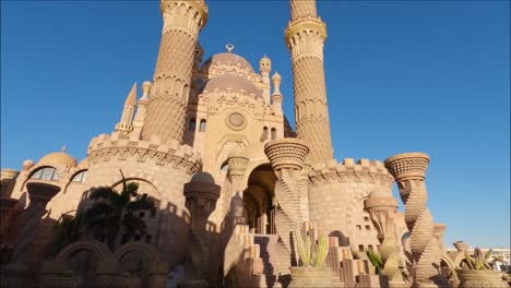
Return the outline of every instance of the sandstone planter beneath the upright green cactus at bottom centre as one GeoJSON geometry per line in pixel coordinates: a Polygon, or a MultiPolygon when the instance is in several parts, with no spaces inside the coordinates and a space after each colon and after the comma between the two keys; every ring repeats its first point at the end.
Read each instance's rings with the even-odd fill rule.
{"type": "Polygon", "coordinates": [[[334,287],[330,267],[289,267],[292,280],[288,288],[295,287],[334,287]]]}

